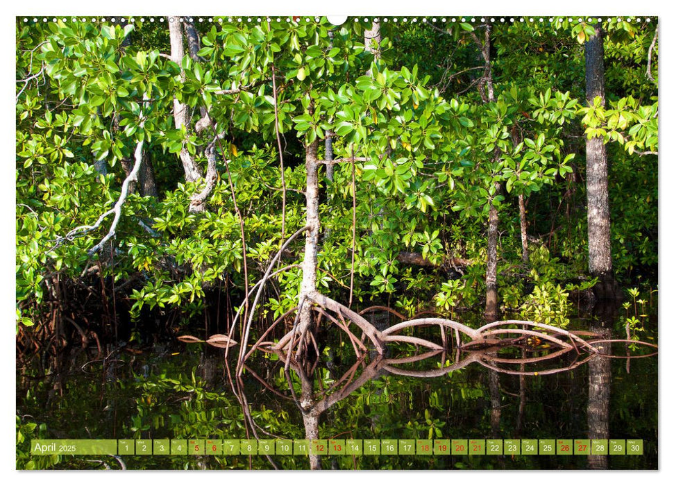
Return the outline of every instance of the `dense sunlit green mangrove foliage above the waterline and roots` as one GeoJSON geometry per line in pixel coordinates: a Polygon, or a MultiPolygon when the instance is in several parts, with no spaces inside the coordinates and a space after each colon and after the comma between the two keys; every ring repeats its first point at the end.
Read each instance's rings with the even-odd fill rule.
{"type": "MultiPolygon", "coordinates": [[[[378,59],[364,47],[367,24],[353,19],[340,27],[320,19],[196,28],[200,58],[185,56],[178,65],[160,55],[168,39],[158,24],[17,25],[17,79],[24,80],[16,107],[17,326],[44,317],[53,280],[83,279],[87,250],[110,218],[65,244],[57,245],[58,237],[112,208],[126,177],[122,166],[141,141],[158,196],[128,196],[104,250],[114,267],[101,265],[104,278],[129,284],[131,317],[157,309],[193,317],[209,290],[230,283],[242,290],[244,260],[249,280],[259,278],[280,242],[277,117],[289,188],[286,236],[303,226],[306,144],[320,142],[320,154],[330,135],[335,158],[366,160],[353,165],[356,301],[391,299],[410,314],[433,296],[446,311],[479,305],[485,219],[494,206],[504,308],[537,318],[551,312],[563,321],[566,285],[586,271],[584,136],[602,137],[612,160],[616,273],[655,274],[657,158],[646,154],[658,150],[657,84],[646,77],[650,58],[657,80],[654,23],[603,22],[606,106],[583,101],[582,43],[596,33],[587,19],[491,26],[488,102],[480,94],[483,24],[382,24],[378,59]],[[174,99],[189,110],[187,126],[174,126],[174,99]],[[203,181],[184,182],[178,161],[185,150],[205,169],[213,133],[197,131],[201,110],[222,132],[219,176],[205,212],[192,214],[190,200],[203,181]],[[96,169],[101,161],[107,175],[96,169]],[[528,207],[530,233],[550,235],[549,254],[532,256],[527,269],[519,261],[518,196],[528,207]],[[421,253],[433,265],[452,257],[471,265],[448,279],[401,265],[401,251],[421,253]]],[[[322,292],[346,292],[353,195],[349,163],[335,166],[332,182],[321,181],[322,292]]],[[[301,242],[289,253],[285,263],[298,262],[301,242]]],[[[300,279],[294,267],[276,276],[278,295],[262,312],[276,318],[294,307],[300,279]]]]}

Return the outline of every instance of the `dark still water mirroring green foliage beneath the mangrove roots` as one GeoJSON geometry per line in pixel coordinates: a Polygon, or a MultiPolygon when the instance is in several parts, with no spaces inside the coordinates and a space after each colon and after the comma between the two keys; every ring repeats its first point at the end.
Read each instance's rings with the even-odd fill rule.
{"type": "MultiPolygon", "coordinates": [[[[584,329],[591,325],[589,321],[572,324],[584,329]]],[[[617,326],[609,331],[613,337],[624,337],[618,335],[617,326]]],[[[650,337],[657,339],[652,333],[650,337]]],[[[644,449],[643,455],[609,455],[599,461],[581,455],[344,456],[323,458],[323,469],[658,467],[657,356],[595,358],[575,366],[580,358],[564,355],[539,365],[537,376],[497,373],[473,362],[441,376],[419,378],[387,371],[383,366],[387,363],[382,364],[381,357],[373,353],[363,353],[359,361],[344,335],[333,333],[322,338],[328,345],[321,346],[318,360],[309,360],[303,371],[290,367],[287,374],[295,399],[307,392],[304,384],[310,387],[312,399],[325,399],[328,404],[319,418],[321,439],[608,437],[643,439],[644,449]],[[573,369],[543,373],[564,368],[573,369]],[[303,373],[307,374],[304,380],[303,373]]],[[[624,344],[611,346],[612,354],[625,355],[624,344]]],[[[498,355],[509,358],[519,352],[505,350],[498,355]]],[[[545,352],[535,346],[527,351],[529,356],[545,352]]],[[[238,348],[230,353],[233,373],[238,348]]],[[[409,355],[410,349],[389,349],[385,359],[405,353],[409,355]]],[[[458,361],[461,359],[459,356],[458,361]]],[[[454,353],[437,353],[421,362],[398,364],[398,369],[418,374],[456,362],[454,353]]],[[[104,456],[28,454],[30,439],[36,437],[305,438],[303,415],[290,392],[283,361],[260,352],[247,364],[241,387],[236,388],[228,379],[224,350],[174,341],[142,353],[110,347],[97,356],[95,349],[87,349],[19,369],[17,416],[26,439],[17,445],[17,468],[119,469],[123,463],[128,469],[272,469],[264,456],[133,455],[118,461],[104,456]],[[249,407],[248,420],[242,401],[249,407]],[[27,424],[37,425],[29,430],[27,424]]],[[[514,365],[510,369],[520,368],[514,365]]],[[[310,467],[304,456],[276,455],[272,459],[279,469],[310,467]]]]}

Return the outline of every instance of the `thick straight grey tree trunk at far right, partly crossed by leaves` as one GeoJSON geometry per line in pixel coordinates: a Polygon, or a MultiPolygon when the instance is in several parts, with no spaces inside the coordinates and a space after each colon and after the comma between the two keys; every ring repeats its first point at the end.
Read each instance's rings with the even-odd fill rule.
{"type": "MultiPolygon", "coordinates": [[[[585,42],[585,87],[591,106],[596,97],[604,106],[604,44],[599,25],[585,42]]],[[[587,242],[589,271],[598,277],[594,287],[598,299],[616,299],[616,281],[611,258],[611,215],[609,211],[608,159],[601,137],[585,141],[587,159],[587,242]]]]}

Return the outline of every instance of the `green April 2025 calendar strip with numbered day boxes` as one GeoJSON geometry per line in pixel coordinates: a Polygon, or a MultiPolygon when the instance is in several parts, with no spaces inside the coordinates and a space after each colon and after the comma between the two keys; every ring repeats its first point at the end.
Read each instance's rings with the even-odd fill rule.
{"type": "Polygon", "coordinates": [[[642,439],[33,439],[33,455],[643,455],[642,439]]]}

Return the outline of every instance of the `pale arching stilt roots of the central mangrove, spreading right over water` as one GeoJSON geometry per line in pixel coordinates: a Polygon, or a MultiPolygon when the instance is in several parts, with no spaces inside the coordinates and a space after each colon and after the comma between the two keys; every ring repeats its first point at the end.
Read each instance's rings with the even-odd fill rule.
{"type": "MultiPolygon", "coordinates": [[[[577,355],[588,353],[588,357],[582,359],[576,358],[571,364],[571,367],[564,367],[564,369],[572,369],[593,356],[602,355],[593,344],[605,342],[605,340],[597,340],[598,335],[589,331],[568,331],[549,324],[541,324],[534,321],[495,321],[485,324],[478,329],[469,328],[464,324],[460,324],[450,319],[442,319],[439,317],[417,318],[403,321],[394,326],[390,326],[385,330],[378,330],[370,321],[365,319],[361,314],[371,310],[385,310],[391,314],[397,315],[404,319],[398,312],[391,312],[392,309],[384,306],[375,306],[367,308],[361,314],[354,312],[346,305],[330,299],[327,296],[312,292],[301,299],[298,308],[294,308],[280,317],[276,323],[287,317],[291,312],[297,311],[297,316],[300,315],[303,305],[310,305],[312,312],[314,312],[314,322],[320,323],[326,319],[332,324],[335,324],[348,337],[348,340],[353,346],[353,350],[357,358],[361,358],[363,353],[367,352],[368,346],[364,342],[364,337],[367,336],[370,344],[370,349],[383,355],[384,350],[389,344],[411,344],[419,353],[446,353],[449,350],[457,350],[471,355],[470,361],[477,361],[484,364],[485,367],[494,369],[508,374],[550,374],[562,371],[562,369],[550,369],[540,371],[514,371],[505,369],[501,366],[513,364],[530,364],[536,362],[544,362],[552,358],[557,358],[569,351],[575,351],[577,355]],[[362,332],[362,337],[357,337],[349,326],[355,324],[362,332]],[[431,335],[431,337],[419,337],[411,335],[410,331],[420,328],[429,328],[438,326],[439,333],[431,335]],[[585,340],[580,335],[587,336],[589,340],[585,340]],[[439,337],[439,340],[437,339],[439,337]],[[439,341],[439,342],[437,342],[439,341]],[[532,345],[530,343],[535,342],[532,345]],[[530,358],[501,358],[496,355],[496,351],[506,348],[521,348],[534,349],[534,346],[539,349],[545,349],[544,355],[530,357],[530,358]],[[423,351],[426,349],[426,351],[423,351]]],[[[276,325],[274,323],[274,325],[276,325]]],[[[269,329],[271,330],[271,328],[269,329]]],[[[319,346],[314,336],[314,328],[307,328],[299,323],[298,317],[295,319],[292,330],[286,333],[277,343],[264,342],[269,330],[260,338],[258,343],[253,346],[253,349],[246,354],[253,353],[258,346],[270,346],[273,351],[283,353],[286,365],[291,360],[302,361],[307,353],[307,350],[313,348],[319,355],[319,346]]],[[[621,340],[612,340],[615,342],[623,342],[621,340]]],[[[646,346],[651,346],[657,349],[657,345],[650,343],[641,343],[646,346]]],[[[657,353],[657,351],[655,351],[657,353]]],[[[649,356],[654,353],[648,354],[649,356]]],[[[647,355],[643,355],[646,357],[647,355]]],[[[385,367],[393,368],[393,362],[389,362],[385,367]]],[[[465,363],[464,363],[465,364],[465,363]]],[[[391,369],[390,371],[400,373],[400,369],[391,369]]],[[[440,370],[438,370],[440,371],[440,370]]],[[[447,371],[446,369],[444,371],[447,371]]],[[[435,371],[433,371],[435,373],[435,371]]]]}

